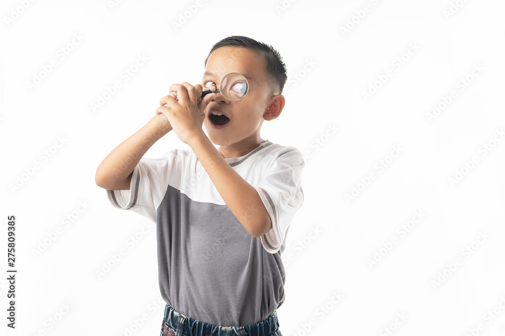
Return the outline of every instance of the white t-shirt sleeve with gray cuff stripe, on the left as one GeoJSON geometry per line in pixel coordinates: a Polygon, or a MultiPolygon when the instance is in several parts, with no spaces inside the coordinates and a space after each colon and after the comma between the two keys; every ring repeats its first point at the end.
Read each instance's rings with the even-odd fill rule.
{"type": "Polygon", "coordinates": [[[156,211],[174,175],[174,157],[171,153],[162,159],[140,159],[133,169],[130,190],[107,190],[111,204],[116,209],[131,210],[156,223],[156,211]]]}

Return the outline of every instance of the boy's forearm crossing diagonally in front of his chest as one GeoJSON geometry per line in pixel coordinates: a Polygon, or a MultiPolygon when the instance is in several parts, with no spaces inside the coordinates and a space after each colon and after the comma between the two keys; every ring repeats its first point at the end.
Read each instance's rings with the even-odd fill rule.
{"type": "Polygon", "coordinates": [[[188,143],[207,171],[230,211],[253,237],[261,237],[272,227],[270,216],[256,189],[222,157],[202,131],[188,143]]]}

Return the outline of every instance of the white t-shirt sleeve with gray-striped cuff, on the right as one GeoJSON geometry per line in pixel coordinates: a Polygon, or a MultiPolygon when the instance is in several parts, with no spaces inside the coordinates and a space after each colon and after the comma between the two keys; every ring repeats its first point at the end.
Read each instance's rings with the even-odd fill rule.
{"type": "Polygon", "coordinates": [[[272,221],[272,228],[261,236],[263,247],[276,253],[294,215],[304,201],[301,173],[305,159],[295,148],[279,155],[265,178],[255,186],[272,221]]]}

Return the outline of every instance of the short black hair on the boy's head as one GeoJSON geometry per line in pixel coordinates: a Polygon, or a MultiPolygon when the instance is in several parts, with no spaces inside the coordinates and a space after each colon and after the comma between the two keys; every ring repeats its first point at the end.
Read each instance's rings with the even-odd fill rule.
{"type": "Polygon", "coordinates": [[[217,48],[224,46],[247,48],[256,52],[260,56],[263,56],[267,61],[267,73],[270,75],[273,83],[278,85],[279,94],[282,93],[284,84],[286,84],[287,81],[286,64],[282,61],[280,53],[271,45],[258,42],[257,40],[246,36],[228,36],[214,44],[205,59],[204,66],[207,66],[207,60],[209,59],[210,54],[217,48]]]}

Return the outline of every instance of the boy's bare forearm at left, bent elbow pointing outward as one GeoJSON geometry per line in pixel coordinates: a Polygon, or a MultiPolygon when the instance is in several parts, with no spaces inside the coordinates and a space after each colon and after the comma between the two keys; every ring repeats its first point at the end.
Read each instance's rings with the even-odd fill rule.
{"type": "Polygon", "coordinates": [[[128,177],[133,169],[145,152],[171,129],[165,115],[155,115],[106,156],[96,169],[95,183],[107,190],[129,189],[128,177]]]}

